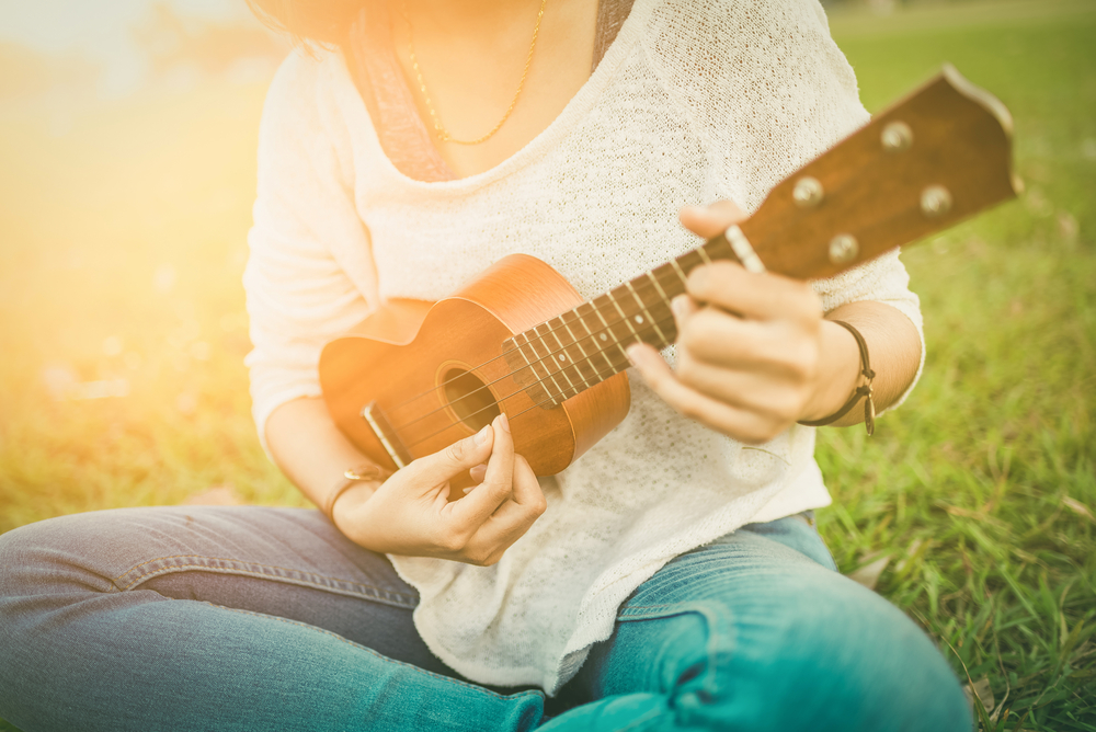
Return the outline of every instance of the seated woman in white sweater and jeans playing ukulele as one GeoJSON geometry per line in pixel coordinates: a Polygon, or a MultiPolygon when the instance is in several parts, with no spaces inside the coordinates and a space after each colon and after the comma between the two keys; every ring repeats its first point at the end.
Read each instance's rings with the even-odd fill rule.
{"type": "Polygon", "coordinates": [[[333,46],[272,84],[246,274],[260,435],[331,521],[138,508],[5,535],[0,714],[27,732],[970,729],[928,639],[813,528],[830,499],[798,423],[859,421],[830,419],[864,381],[853,331],[879,408],[918,373],[895,255],[813,286],[698,268],[675,368],[630,348],[631,412],[553,479],[504,415],[381,474],[319,399],[324,341],[386,299],[438,299],[515,251],[590,297],[740,220],[731,201],[755,208],[867,119],[821,8],[256,4],[333,46]],[[477,484],[447,502],[465,470],[477,484]]]}

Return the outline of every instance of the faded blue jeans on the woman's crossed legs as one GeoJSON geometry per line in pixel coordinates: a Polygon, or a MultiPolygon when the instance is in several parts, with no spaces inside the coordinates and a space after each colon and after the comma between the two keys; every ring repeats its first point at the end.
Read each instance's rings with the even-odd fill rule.
{"type": "Polygon", "coordinates": [[[670,562],[552,699],[446,667],[415,632],[416,602],[316,511],[24,526],[0,537],[0,717],[25,732],[972,725],[928,638],[835,572],[801,517],[670,562]]]}

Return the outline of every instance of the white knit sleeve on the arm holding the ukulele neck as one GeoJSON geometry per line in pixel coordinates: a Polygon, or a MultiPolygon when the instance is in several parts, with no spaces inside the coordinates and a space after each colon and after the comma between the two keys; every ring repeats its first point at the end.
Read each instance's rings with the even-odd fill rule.
{"type": "MultiPolygon", "coordinates": [[[[756,210],[774,185],[870,118],[818,0],[664,0],[651,23],[652,65],[718,171],[711,199],[756,210]]],[[[826,311],[875,300],[916,328],[921,365],[891,409],[925,359],[909,282],[894,251],[812,283],[826,311]]]]}

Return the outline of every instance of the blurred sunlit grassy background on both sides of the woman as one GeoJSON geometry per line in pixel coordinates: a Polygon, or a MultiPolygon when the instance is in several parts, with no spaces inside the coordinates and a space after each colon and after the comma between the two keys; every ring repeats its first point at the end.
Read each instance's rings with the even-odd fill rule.
{"type": "MultiPolygon", "coordinates": [[[[874,438],[821,431],[821,530],[937,639],[983,729],[1096,731],[1096,0],[823,4],[869,110],[944,61],[1000,96],[1027,191],[903,254],[925,376],[874,438]]],[[[288,48],[244,0],[0,4],[0,533],[305,505],[241,363],[288,48]]]]}

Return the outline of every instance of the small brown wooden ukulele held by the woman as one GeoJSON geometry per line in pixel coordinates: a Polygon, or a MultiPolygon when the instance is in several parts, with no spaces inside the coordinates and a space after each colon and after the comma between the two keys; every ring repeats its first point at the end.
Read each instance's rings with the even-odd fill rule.
{"type": "Polygon", "coordinates": [[[505,412],[534,472],[560,472],[628,413],[625,348],[674,342],[670,301],[694,267],[835,275],[1017,195],[1011,135],[1005,106],[946,66],[785,179],[749,219],[604,295],[584,300],[549,265],[513,254],[437,302],[389,301],[324,346],[328,409],[390,469],[505,412]]]}

